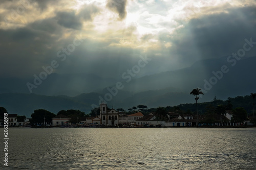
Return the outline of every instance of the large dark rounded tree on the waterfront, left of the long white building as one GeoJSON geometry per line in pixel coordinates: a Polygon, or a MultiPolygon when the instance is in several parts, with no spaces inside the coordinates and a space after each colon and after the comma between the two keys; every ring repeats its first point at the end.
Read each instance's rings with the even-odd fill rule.
{"type": "Polygon", "coordinates": [[[51,113],[45,109],[37,109],[31,114],[31,123],[44,124],[46,122],[50,124],[54,116],[56,116],[54,113],[51,113]]]}

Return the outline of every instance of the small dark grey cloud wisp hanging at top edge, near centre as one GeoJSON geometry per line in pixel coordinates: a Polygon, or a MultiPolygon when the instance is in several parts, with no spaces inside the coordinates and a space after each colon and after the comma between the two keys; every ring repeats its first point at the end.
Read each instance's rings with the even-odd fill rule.
{"type": "Polygon", "coordinates": [[[127,0],[109,0],[108,4],[106,4],[106,7],[111,9],[114,12],[117,12],[119,15],[119,18],[122,20],[126,17],[126,3],[127,0]]]}

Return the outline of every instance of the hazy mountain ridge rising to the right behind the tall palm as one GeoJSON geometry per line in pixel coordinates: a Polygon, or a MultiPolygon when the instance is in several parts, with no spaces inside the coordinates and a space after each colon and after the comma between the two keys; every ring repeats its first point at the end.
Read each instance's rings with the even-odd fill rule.
{"type": "MultiPolygon", "coordinates": [[[[231,65],[233,63],[227,62],[227,57],[201,60],[188,68],[145,76],[129,83],[123,82],[125,86],[123,90],[133,93],[144,91],[144,94],[145,91],[154,93],[152,90],[163,90],[166,94],[170,92],[189,94],[193,88],[199,87],[205,92],[203,101],[212,100],[215,95],[225,100],[228,96],[246,95],[256,91],[255,63],[256,57],[241,59],[233,66],[231,65]],[[221,71],[223,66],[226,68],[226,73],[221,71]]],[[[158,96],[157,93],[159,91],[155,91],[152,97],[158,96]]],[[[182,99],[184,100],[186,98],[182,99]]],[[[182,103],[182,101],[176,102],[182,103]]]]}

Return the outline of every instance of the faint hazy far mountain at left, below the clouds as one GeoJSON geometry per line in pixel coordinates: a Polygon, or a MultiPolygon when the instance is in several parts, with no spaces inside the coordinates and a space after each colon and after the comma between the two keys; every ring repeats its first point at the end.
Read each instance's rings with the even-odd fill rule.
{"type": "MultiPolygon", "coordinates": [[[[38,75],[37,75],[38,76],[38,75]]],[[[18,78],[0,78],[0,93],[20,92],[30,93],[27,83],[34,83],[35,78],[18,79],[18,78]]],[[[68,95],[76,96],[84,92],[97,91],[116,82],[115,79],[104,79],[93,74],[51,74],[45,80],[42,80],[36,88],[31,88],[32,93],[41,95],[68,95]]]]}

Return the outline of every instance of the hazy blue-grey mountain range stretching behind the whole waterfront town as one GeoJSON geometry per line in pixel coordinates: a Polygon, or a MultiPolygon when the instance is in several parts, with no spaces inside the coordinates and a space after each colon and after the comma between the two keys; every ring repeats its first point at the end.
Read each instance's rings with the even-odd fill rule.
{"type": "MultiPolygon", "coordinates": [[[[230,58],[229,58],[230,59],[230,58]]],[[[109,107],[128,109],[137,105],[148,108],[194,103],[189,92],[201,88],[199,102],[249,95],[255,92],[256,57],[230,62],[228,56],[200,60],[190,67],[160,72],[131,81],[101,78],[92,74],[48,75],[30,93],[27,83],[33,79],[1,78],[0,106],[9,113],[30,116],[35,109],[46,109],[55,114],[60,110],[75,109],[89,113],[101,101],[109,107]]]]}

